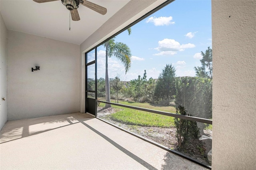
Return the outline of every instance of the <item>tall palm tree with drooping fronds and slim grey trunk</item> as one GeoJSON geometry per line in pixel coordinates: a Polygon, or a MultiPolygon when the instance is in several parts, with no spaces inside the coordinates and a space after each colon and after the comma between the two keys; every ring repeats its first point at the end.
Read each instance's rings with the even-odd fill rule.
{"type": "MultiPolygon", "coordinates": [[[[129,35],[131,34],[131,28],[127,29],[129,35]]],[[[104,47],[106,48],[106,75],[105,75],[105,90],[106,90],[106,101],[110,102],[110,86],[109,86],[109,79],[108,79],[108,57],[116,57],[119,59],[125,68],[125,73],[131,67],[131,50],[125,43],[122,42],[115,42],[115,37],[111,38],[107,42],[103,43],[104,47]]],[[[110,104],[106,104],[105,107],[111,107],[110,104]]]]}

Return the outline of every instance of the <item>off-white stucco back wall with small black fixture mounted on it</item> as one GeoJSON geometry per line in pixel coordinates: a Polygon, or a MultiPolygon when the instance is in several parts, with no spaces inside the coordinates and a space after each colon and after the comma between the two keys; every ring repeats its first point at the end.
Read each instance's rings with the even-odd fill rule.
{"type": "Polygon", "coordinates": [[[80,45],[8,30],[7,49],[8,120],[79,112],[80,45]]]}

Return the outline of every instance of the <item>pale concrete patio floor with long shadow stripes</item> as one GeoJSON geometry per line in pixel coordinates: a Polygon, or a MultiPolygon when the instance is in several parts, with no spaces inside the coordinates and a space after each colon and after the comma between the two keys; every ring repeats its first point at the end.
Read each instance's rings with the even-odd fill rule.
{"type": "Polygon", "coordinates": [[[0,133],[1,170],[206,169],[88,114],[9,121],[0,133]]]}

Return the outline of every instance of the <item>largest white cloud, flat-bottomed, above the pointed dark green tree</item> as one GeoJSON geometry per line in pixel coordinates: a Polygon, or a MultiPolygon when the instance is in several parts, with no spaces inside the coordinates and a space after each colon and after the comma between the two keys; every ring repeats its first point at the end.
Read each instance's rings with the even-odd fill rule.
{"type": "Polygon", "coordinates": [[[165,38],[162,41],[158,41],[158,47],[154,48],[162,52],[154,55],[174,55],[176,54],[175,51],[184,51],[186,48],[194,48],[194,47],[196,47],[196,45],[192,43],[180,45],[180,43],[176,42],[175,40],[165,38]]]}

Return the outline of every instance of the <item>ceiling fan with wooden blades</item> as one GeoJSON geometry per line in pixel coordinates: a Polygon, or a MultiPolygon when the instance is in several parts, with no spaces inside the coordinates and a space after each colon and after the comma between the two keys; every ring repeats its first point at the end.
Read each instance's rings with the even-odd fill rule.
{"type": "MultiPolygon", "coordinates": [[[[51,2],[56,0],[33,0],[33,1],[38,3],[43,3],[43,2],[51,2]]],[[[80,20],[80,17],[77,11],[79,4],[82,4],[83,6],[86,6],[87,8],[90,8],[91,10],[94,10],[95,12],[98,12],[102,15],[105,15],[107,13],[106,8],[99,6],[97,4],[94,4],[92,2],[89,2],[87,0],[61,0],[61,2],[64,6],[66,6],[68,10],[70,10],[73,21],[80,20]]]]}

